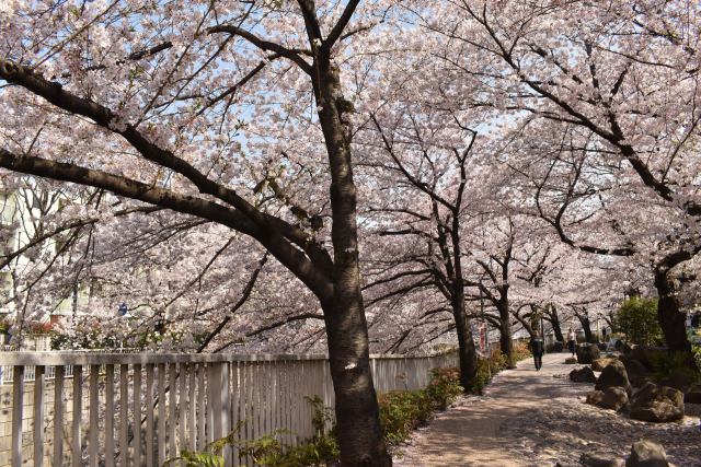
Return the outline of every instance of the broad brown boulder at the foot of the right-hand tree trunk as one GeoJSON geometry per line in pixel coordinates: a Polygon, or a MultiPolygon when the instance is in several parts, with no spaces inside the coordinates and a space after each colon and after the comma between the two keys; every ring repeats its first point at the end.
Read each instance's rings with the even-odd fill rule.
{"type": "Polygon", "coordinates": [[[630,400],[632,419],[664,423],[683,418],[683,393],[668,386],[646,383],[630,400]]]}

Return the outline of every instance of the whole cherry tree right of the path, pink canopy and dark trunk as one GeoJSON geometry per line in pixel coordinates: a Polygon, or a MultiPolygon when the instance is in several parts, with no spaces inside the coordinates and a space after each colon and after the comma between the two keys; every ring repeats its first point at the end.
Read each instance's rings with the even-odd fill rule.
{"type": "Polygon", "coordinates": [[[479,90],[461,103],[504,115],[512,163],[533,180],[542,217],[576,248],[646,262],[668,348],[689,354],[671,276],[701,248],[699,5],[441,8],[417,16],[445,37],[438,54],[455,74],[479,90]]]}

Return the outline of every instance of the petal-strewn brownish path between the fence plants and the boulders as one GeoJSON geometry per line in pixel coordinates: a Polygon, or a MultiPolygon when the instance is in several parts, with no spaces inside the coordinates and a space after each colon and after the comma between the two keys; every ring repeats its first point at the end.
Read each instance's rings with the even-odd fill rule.
{"type": "Polygon", "coordinates": [[[494,377],[485,396],[462,397],[399,450],[400,467],[579,466],[583,453],[624,459],[642,437],[665,446],[678,467],[701,467],[701,406],[678,423],[645,423],[584,404],[591,384],[571,383],[566,354],[548,354],[494,377]]]}

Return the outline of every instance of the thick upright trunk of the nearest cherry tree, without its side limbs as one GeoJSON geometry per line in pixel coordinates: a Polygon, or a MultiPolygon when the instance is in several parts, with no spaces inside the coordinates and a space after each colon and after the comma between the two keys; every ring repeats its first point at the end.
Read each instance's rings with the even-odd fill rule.
{"type": "Polygon", "coordinates": [[[331,171],[331,238],[334,249],[331,303],[322,303],[342,466],[392,465],[387,452],[377,394],[370,373],[369,339],[358,266],[357,201],[350,161],[353,129],[344,116],[346,102],[338,71],[330,58],[315,62],[319,120],[331,171]]]}

